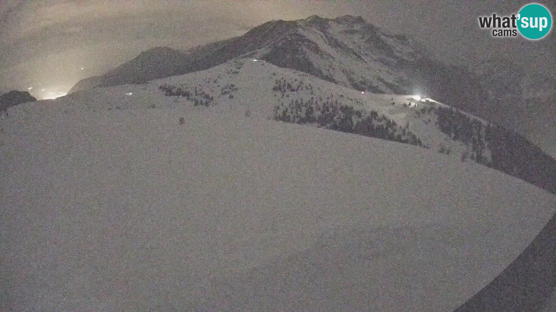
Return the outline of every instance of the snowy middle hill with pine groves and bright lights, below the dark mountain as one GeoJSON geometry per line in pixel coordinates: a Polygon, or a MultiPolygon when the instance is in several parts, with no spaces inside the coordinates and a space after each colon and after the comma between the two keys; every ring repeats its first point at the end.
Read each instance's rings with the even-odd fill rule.
{"type": "Polygon", "coordinates": [[[93,99],[97,109],[208,109],[306,123],[434,149],[556,192],[556,161],[527,139],[434,99],[415,98],[358,92],[260,59],[238,58],[148,84],[73,93],[64,102],[91,106],[83,103],[93,99]]]}

